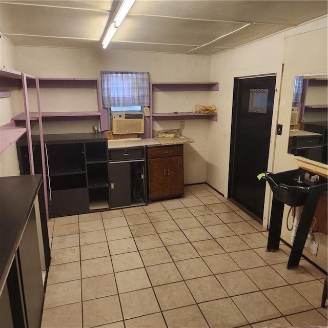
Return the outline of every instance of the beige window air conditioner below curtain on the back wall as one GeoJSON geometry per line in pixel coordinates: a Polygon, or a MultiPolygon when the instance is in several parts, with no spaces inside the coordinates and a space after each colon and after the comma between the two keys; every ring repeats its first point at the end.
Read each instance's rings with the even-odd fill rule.
{"type": "Polygon", "coordinates": [[[111,113],[113,134],[144,133],[144,113],[111,113]]]}

